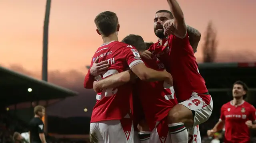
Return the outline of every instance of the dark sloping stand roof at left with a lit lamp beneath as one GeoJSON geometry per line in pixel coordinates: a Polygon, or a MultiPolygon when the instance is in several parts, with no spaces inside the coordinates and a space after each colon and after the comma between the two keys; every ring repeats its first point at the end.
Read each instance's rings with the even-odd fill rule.
{"type": "Polygon", "coordinates": [[[75,96],[77,92],[0,67],[0,103],[5,105],[75,96]],[[28,92],[28,88],[32,91],[28,92]]]}

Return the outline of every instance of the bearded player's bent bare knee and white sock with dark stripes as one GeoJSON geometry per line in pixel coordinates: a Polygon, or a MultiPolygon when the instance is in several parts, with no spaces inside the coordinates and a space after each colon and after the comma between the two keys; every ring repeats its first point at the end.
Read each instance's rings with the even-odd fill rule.
{"type": "Polygon", "coordinates": [[[169,111],[167,119],[172,142],[188,143],[188,131],[185,125],[193,125],[192,111],[182,104],[177,104],[169,111]]]}

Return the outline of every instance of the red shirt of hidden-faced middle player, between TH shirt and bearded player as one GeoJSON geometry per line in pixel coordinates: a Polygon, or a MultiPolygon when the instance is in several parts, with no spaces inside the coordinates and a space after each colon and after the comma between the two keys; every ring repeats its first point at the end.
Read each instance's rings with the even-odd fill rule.
{"type": "MultiPolygon", "coordinates": [[[[164,71],[165,67],[157,57],[152,60],[143,59],[148,68],[164,71]]],[[[161,121],[170,109],[178,104],[173,86],[164,81],[146,82],[138,80],[137,90],[150,130],[154,129],[156,121],[161,121]]]]}

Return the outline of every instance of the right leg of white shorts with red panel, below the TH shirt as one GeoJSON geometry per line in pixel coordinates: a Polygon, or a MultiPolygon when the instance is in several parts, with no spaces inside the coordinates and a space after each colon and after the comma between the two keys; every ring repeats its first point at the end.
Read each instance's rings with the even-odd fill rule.
{"type": "Polygon", "coordinates": [[[132,119],[98,122],[104,143],[134,143],[132,119]]]}

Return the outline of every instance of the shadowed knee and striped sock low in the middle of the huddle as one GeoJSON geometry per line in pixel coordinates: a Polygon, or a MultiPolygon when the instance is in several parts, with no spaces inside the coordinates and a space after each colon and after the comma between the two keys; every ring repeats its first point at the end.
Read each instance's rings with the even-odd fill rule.
{"type": "Polygon", "coordinates": [[[149,143],[151,131],[145,119],[142,119],[140,123],[138,123],[138,131],[140,143],[149,143]]]}

